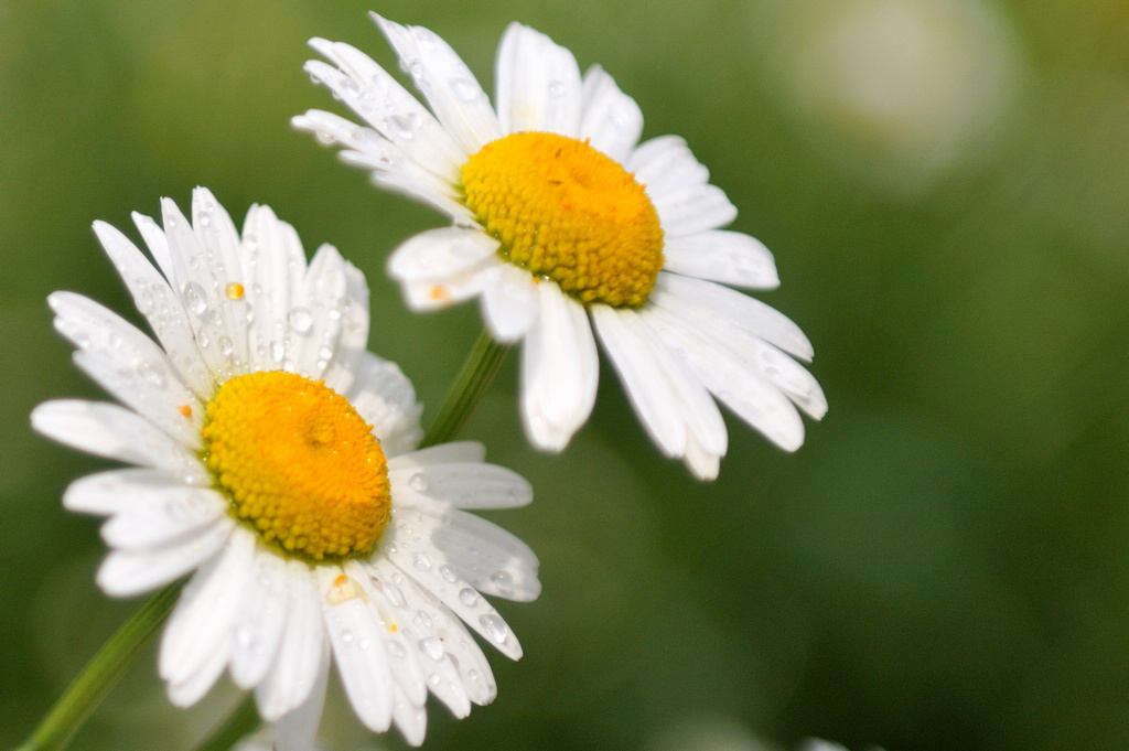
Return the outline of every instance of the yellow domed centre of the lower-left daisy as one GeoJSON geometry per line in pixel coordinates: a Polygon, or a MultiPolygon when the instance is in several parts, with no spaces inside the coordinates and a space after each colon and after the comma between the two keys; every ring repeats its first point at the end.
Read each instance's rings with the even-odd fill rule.
{"type": "Polygon", "coordinates": [[[237,376],[208,402],[204,460],[231,513],[306,559],[371,550],[388,523],[388,468],[373,430],[324,382],[237,376]]]}

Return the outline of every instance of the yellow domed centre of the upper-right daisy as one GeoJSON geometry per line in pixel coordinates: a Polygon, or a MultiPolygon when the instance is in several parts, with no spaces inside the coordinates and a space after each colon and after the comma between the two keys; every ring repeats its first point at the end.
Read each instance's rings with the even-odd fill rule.
{"type": "Polygon", "coordinates": [[[511,133],[463,166],[466,206],[510,263],[581,303],[639,307],[663,268],[644,186],[614,159],[555,133],[511,133]]]}

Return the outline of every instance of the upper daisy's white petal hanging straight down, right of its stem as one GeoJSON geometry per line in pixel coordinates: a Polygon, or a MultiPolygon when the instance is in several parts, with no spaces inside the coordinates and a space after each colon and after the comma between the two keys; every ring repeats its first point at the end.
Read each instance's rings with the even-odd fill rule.
{"type": "Polygon", "coordinates": [[[537,296],[522,351],[522,418],[535,446],[558,452],[592,413],[599,360],[584,307],[555,283],[537,285],[537,296]]]}

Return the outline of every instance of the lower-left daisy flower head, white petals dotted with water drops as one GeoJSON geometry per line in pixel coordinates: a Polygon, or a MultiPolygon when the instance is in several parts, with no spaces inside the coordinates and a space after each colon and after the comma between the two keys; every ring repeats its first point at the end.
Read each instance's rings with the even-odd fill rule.
{"type": "Polygon", "coordinates": [[[423,740],[428,692],[456,717],[495,698],[465,627],[514,660],[522,648],[482,596],[537,596],[537,559],[465,509],[532,499],[479,444],[413,451],[411,383],[366,351],[368,287],[336,250],[307,265],[266,207],[243,235],[204,189],[189,221],[134,220],[156,268],[96,222],[147,334],[80,295],[54,292],[75,361],[121,404],[54,401],[32,425],[135,465],[82,478],[63,504],[110,517],[106,593],[131,596],[193,573],[165,629],[159,673],[182,707],[225,669],[254,689],[275,743],[308,749],[330,655],[360,721],[423,740]]]}

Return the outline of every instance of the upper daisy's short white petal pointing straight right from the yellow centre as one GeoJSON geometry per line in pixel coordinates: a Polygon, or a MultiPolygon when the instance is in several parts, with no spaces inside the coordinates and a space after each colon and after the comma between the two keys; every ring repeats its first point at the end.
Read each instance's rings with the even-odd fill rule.
{"type": "Polygon", "coordinates": [[[776,289],[780,286],[772,253],[749,235],[716,229],[672,237],[663,246],[666,271],[734,287],[776,289]]]}

